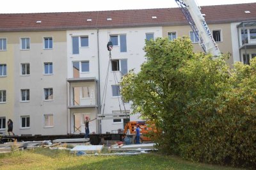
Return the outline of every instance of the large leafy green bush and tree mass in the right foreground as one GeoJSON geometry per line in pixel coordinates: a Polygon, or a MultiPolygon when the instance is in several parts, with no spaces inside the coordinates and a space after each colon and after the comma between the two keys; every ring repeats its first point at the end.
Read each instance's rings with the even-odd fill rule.
{"type": "Polygon", "coordinates": [[[227,55],[194,53],[188,38],[146,42],[147,62],[122,82],[133,112],[163,130],[159,150],[217,164],[256,166],[256,59],[229,70],[227,55]]]}

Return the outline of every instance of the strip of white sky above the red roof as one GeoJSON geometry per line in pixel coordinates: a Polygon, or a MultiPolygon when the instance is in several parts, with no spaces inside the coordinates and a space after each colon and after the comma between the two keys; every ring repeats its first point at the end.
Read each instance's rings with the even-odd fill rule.
{"type": "MultiPolygon", "coordinates": [[[[196,0],[200,6],[256,3],[256,0],[196,0]]],[[[5,0],[0,13],[87,12],[176,8],[175,0],[5,0]]]]}

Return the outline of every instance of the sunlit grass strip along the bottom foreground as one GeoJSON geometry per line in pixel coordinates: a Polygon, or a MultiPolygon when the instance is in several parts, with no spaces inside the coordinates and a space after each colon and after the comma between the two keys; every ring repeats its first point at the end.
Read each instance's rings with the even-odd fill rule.
{"type": "Polygon", "coordinates": [[[0,169],[230,169],[148,153],[132,156],[79,156],[68,151],[35,150],[0,153],[0,169]]]}

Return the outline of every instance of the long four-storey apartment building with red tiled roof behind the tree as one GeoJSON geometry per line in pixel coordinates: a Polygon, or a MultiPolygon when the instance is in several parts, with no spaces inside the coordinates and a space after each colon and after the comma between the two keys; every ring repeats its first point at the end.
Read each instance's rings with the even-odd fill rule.
{"type": "MultiPolygon", "coordinates": [[[[227,63],[256,56],[256,3],[202,6],[227,63]]],[[[104,12],[0,14],[0,132],[15,134],[115,133],[141,121],[124,103],[118,82],[145,61],[145,40],[189,36],[179,8],[104,12]],[[113,43],[109,53],[107,43],[113,43]],[[110,59],[111,58],[111,59],[110,59]]]]}

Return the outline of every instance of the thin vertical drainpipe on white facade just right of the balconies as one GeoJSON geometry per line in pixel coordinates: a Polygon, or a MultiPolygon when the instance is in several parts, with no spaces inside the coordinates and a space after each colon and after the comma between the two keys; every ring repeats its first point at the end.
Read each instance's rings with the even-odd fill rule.
{"type": "MultiPolygon", "coordinates": [[[[97,28],[97,50],[98,50],[98,76],[99,76],[99,80],[98,80],[98,114],[100,114],[101,112],[101,105],[100,105],[100,50],[99,50],[99,28],[97,28]]],[[[101,134],[101,120],[99,120],[99,134],[101,134]]]]}

